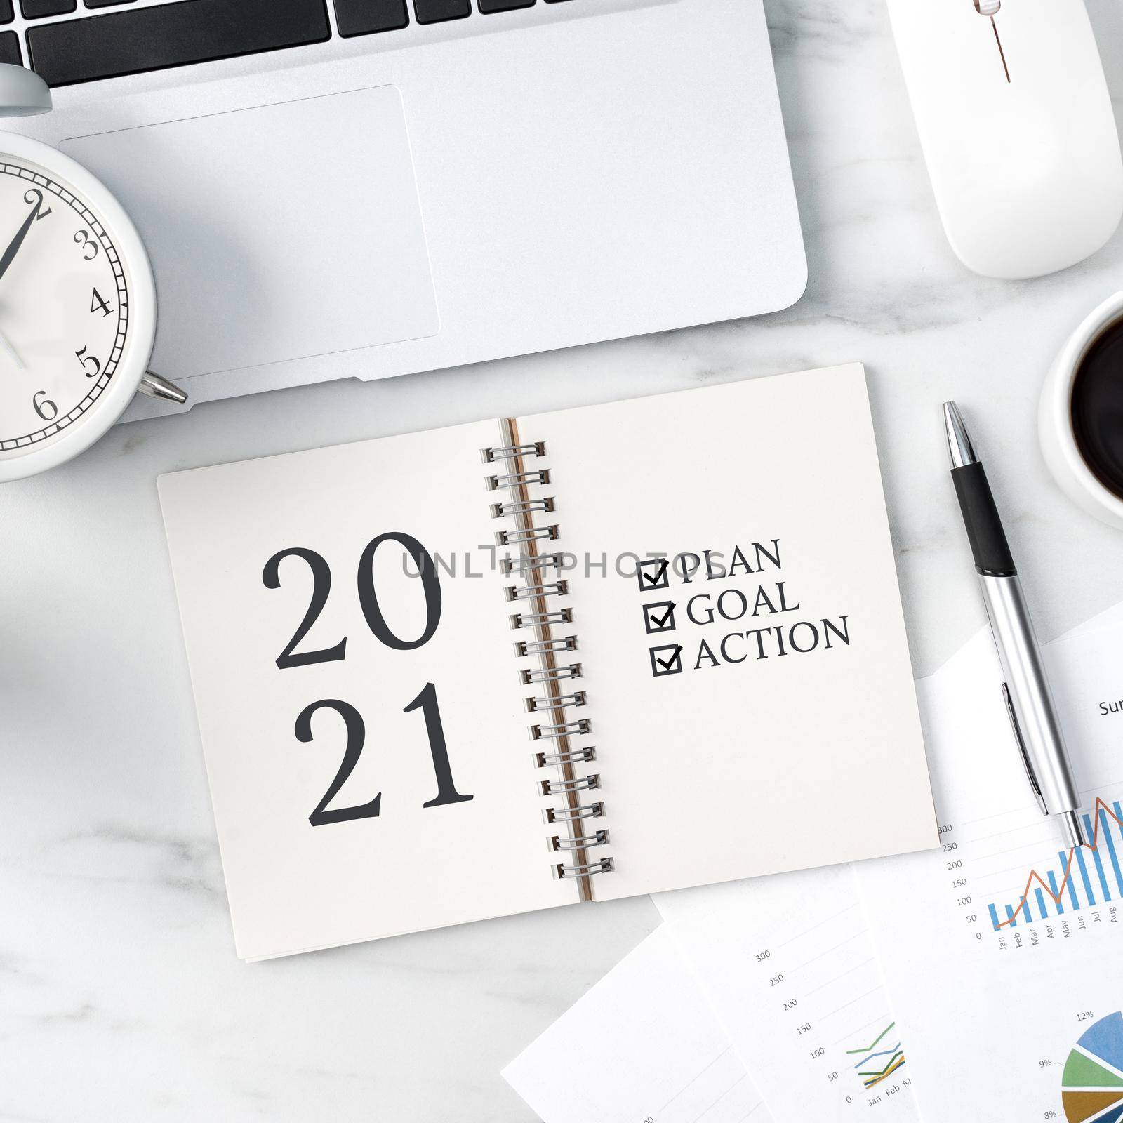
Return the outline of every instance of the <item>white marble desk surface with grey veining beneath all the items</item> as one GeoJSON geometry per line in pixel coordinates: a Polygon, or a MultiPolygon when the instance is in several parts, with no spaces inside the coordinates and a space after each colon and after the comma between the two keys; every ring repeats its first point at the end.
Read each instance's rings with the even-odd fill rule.
{"type": "MultiPolygon", "coordinates": [[[[919,675],[984,619],[944,399],[989,458],[1041,638],[1123,599],[1123,535],[1060,495],[1035,437],[1052,355],[1123,284],[1123,234],[1044,280],[968,273],[882,0],[767,8],[811,274],[791,310],[200,405],[0,490],[0,1120],[528,1123],[501,1066],[658,923],[641,898],[238,962],[157,473],[860,359],[919,675]]],[[[1119,106],[1123,9],[1089,10],[1119,106]]]]}

